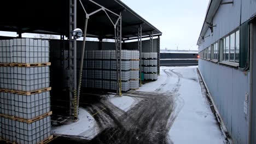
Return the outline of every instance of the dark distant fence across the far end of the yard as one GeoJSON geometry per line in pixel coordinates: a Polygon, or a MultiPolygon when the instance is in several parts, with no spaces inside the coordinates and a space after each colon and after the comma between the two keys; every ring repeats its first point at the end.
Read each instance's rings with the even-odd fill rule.
{"type": "Polygon", "coordinates": [[[160,66],[198,65],[198,53],[160,53],[160,66]]]}

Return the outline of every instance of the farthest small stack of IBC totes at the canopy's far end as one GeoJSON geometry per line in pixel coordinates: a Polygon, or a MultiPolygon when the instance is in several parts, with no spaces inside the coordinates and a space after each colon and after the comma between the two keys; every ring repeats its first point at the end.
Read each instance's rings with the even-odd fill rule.
{"type": "Polygon", "coordinates": [[[142,52],[141,56],[144,80],[158,80],[158,53],[142,52]]]}

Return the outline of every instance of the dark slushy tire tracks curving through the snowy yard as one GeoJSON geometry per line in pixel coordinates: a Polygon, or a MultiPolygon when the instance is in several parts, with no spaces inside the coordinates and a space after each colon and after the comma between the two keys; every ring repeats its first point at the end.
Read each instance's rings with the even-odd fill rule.
{"type": "Polygon", "coordinates": [[[178,97],[181,75],[177,74],[178,78],[173,79],[175,73],[170,69],[163,71],[167,79],[158,91],[127,93],[142,99],[127,112],[120,110],[108,99],[86,107],[89,113],[106,107],[106,110],[94,116],[101,133],[87,143],[173,143],[168,137],[168,131],[183,106],[182,99],[178,97]],[[170,85],[173,80],[177,82],[170,89],[173,87],[170,85]]]}

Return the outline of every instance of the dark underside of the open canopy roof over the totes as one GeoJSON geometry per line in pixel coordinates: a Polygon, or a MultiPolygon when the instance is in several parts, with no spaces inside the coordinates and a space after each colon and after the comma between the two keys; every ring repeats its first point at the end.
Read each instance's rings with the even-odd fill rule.
{"type": "MultiPolygon", "coordinates": [[[[81,0],[89,13],[99,9],[96,4],[88,0],[81,0]]],[[[122,37],[124,39],[137,37],[138,25],[142,25],[142,36],[161,35],[161,32],[144,20],[119,0],[94,0],[94,2],[122,15],[122,37]]],[[[44,33],[68,35],[69,26],[69,0],[24,0],[1,1],[0,31],[19,33],[44,33]]],[[[109,13],[110,19],[118,17],[109,13]]],[[[82,5],[77,1],[77,27],[84,28],[85,13],[82,5]]],[[[88,21],[88,34],[95,37],[113,38],[114,26],[104,11],[90,16],[88,21]]]]}

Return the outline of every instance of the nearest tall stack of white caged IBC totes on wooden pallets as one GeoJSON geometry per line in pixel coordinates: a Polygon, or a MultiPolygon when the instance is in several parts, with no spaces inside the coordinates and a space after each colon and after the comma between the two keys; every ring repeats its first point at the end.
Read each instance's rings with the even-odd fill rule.
{"type": "Polygon", "coordinates": [[[50,135],[49,41],[0,40],[1,140],[43,143],[50,135]]]}

